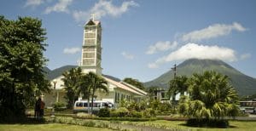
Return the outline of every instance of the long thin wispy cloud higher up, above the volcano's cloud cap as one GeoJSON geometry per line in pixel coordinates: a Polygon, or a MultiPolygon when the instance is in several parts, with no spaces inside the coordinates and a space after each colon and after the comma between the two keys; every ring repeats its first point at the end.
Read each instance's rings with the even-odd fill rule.
{"type": "Polygon", "coordinates": [[[184,42],[199,42],[204,39],[221,37],[230,34],[231,31],[246,31],[247,29],[241,24],[234,22],[233,25],[214,24],[207,28],[191,31],[182,36],[184,42]]]}

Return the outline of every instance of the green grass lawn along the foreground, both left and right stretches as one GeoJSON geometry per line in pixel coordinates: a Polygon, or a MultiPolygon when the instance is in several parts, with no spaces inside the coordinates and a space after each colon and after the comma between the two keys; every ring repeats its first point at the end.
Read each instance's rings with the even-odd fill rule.
{"type": "MultiPolygon", "coordinates": [[[[189,131],[256,131],[256,122],[230,121],[230,128],[191,128],[184,125],[184,121],[151,121],[151,122],[117,122],[116,124],[131,124],[153,128],[166,128],[189,131]]],[[[122,126],[120,126],[122,127],[122,126]]],[[[107,128],[90,128],[61,123],[49,124],[0,124],[1,131],[111,131],[107,128]]]]}

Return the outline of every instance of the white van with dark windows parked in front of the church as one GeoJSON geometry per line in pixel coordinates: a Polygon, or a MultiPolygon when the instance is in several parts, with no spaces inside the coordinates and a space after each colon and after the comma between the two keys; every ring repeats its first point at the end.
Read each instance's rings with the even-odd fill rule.
{"type": "MultiPolygon", "coordinates": [[[[94,100],[93,101],[93,111],[92,112],[98,112],[102,108],[113,108],[113,103],[108,101],[102,101],[102,100],[94,100]]],[[[90,101],[90,108],[91,108],[91,101],[90,101]]],[[[73,105],[73,112],[88,112],[88,101],[87,100],[77,100],[73,105]]]]}

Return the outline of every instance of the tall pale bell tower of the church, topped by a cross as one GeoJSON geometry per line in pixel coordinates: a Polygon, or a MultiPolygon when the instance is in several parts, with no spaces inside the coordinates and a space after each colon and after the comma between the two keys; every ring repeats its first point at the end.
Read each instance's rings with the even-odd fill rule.
{"type": "Polygon", "coordinates": [[[84,73],[90,71],[102,75],[102,26],[101,22],[90,19],[84,25],[81,68],[84,73]]]}

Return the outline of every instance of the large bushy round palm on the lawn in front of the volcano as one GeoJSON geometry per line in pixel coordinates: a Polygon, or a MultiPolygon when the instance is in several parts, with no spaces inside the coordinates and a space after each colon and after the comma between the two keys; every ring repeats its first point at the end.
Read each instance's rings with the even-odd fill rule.
{"type": "Polygon", "coordinates": [[[183,114],[199,119],[236,117],[239,110],[236,106],[238,95],[230,86],[228,77],[215,71],[194,74],[189,81],[189,98],[183,101],[189,105],[183,114]]]}

